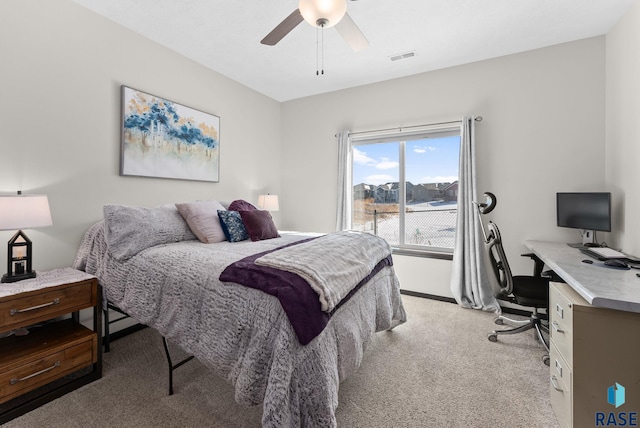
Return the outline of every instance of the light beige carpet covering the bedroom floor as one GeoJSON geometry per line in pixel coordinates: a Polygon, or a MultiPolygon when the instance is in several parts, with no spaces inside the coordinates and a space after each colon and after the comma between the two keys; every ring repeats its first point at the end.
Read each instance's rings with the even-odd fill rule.
{"type": "MultiPolygon", "coordinates": [[[[408,322],[377,333],[340,386],[339,427],[558,427],[549,368],[532,332],[487,340],[493,314],[403,296],[408,322]]],[[[177,355],[177,351],[174,349],[177,355]]],[[[160,336],[145,329],[112,343],[102,379],[5,425],[14,427],[259,427],[261,408],[198,361],[167,395],[160,336]]]]}

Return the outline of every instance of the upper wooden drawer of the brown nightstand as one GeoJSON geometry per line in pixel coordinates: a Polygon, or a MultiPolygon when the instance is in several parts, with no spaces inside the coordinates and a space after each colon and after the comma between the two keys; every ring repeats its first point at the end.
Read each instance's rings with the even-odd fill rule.
{"type": "Polygon", "coordinates": [[[94,280],[22,293],[0,301],[0,332],[95,305],[94,280]]]}

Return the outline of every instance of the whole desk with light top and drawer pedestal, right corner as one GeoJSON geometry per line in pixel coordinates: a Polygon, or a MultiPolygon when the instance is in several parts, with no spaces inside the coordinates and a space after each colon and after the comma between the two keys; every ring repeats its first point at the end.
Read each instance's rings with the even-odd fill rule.
{"type": "MultiPolygon", "coordinates": [[[[589,257],[563,243],[525,245],[566,281],[552,282],[549,291],[549,390],[560,426],[638,426],[638,270],[613,269],[597,260],[582,263],[589,257]],[[608,396],[616,384],[625,388],[618,407],[608,396]]],[[[621,390],[616,393],[620,400],[621,390]]]]}

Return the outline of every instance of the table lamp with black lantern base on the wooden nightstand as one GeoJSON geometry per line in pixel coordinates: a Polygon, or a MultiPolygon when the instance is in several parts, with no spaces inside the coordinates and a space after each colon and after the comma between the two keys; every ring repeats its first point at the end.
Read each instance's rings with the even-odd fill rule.
{"type": "Polygon", "coordinates": [[[22,229],[51,226],[51,210],[46,195],[0,196],[0,230],[18,229],[7,244],[7,273],[2,282],[35,278],[32,270],[31,240],[22,229]]]}

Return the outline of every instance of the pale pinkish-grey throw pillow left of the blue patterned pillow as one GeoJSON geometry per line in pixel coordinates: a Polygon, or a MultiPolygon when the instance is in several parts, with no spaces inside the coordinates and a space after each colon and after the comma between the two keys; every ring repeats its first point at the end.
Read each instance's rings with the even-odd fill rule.
{"type": "Polygon", "coordinates": [[[176,204],[176,208],[201,242],[213,244],[226,239],[222,226],[220,226],[220,217],[218,217],[218,210],[224,210],[220,202],[179,203],[176,204]]]}

